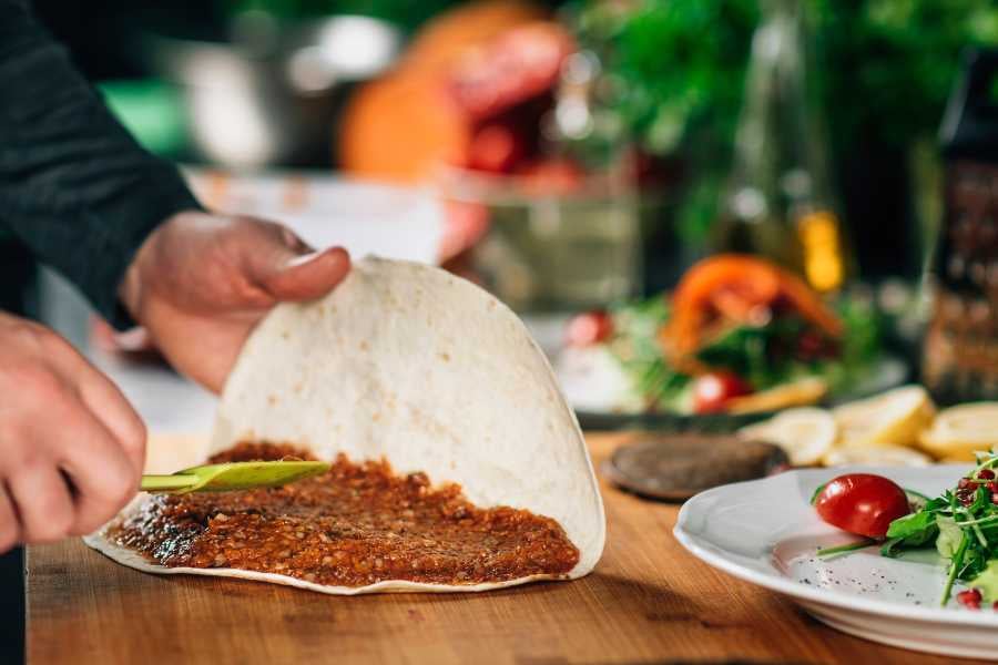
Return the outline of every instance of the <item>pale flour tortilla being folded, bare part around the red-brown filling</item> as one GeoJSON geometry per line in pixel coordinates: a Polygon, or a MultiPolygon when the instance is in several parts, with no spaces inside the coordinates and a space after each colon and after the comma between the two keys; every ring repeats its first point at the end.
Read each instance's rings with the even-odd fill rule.
{"type": "Polygon", "coordinates": [[[292,443],[326,460],[385,458],[397,473],[422,471],[434,483],[460,484],[478,507],[552,518],[579,549],[579,562],[567,576],[346,587],[238,569],[165,567],[108,540],[106,526],[84,541],[146,572],[332,594],[487,591],[574,579],[603,551],[605,516],[592,462],[547,358],[508,307],[438,268],[368,257],[324,298],[274,308],[228,378],[207,453],[254,440],[292,443]]]}

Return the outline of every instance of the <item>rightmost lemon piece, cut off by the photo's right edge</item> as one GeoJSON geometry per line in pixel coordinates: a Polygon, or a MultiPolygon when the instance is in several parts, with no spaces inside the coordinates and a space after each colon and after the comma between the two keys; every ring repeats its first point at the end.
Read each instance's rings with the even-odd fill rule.
{"type": "Polygon", "coordinates": [[[939,411],[919,442],[934,457],[972,461],[975,452],[998,446],[998,402],[971,402],[939,411]]]}

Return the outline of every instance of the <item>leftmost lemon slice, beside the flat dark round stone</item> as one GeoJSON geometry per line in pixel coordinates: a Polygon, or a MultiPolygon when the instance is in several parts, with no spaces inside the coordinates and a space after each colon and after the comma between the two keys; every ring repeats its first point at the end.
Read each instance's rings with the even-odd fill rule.
{"type": "Polygon", "coordinates": [[[813,407],[787,409],[770,420],[739,430],[743,439],[775,443],[795,467],[818,463],[832,449],[837,433],[832,413],[813,407]]]}

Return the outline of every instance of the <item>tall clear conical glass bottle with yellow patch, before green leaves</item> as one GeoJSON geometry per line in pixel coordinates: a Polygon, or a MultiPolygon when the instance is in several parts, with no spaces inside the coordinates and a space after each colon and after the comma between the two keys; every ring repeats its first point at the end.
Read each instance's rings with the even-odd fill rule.
{"type": "Polygon", "coordinates": [[[763,0],[714,248],[758,254],[817,290],[848,272],[800,0],[763,0]]]}

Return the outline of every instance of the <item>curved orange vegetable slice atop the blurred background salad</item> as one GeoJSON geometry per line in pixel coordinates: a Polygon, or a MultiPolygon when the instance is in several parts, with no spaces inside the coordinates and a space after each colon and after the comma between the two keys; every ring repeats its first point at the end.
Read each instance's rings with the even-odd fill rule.
{"type": "Polygon", "coordinates": [[[720,254],[686,272],[672,295],[672,318],[660,332],[666,354],[695,351],[719,326],[764,325],[778,308],[793,310],[829,337],[842,321],[803,279],[767,260],[720,254]]]}

